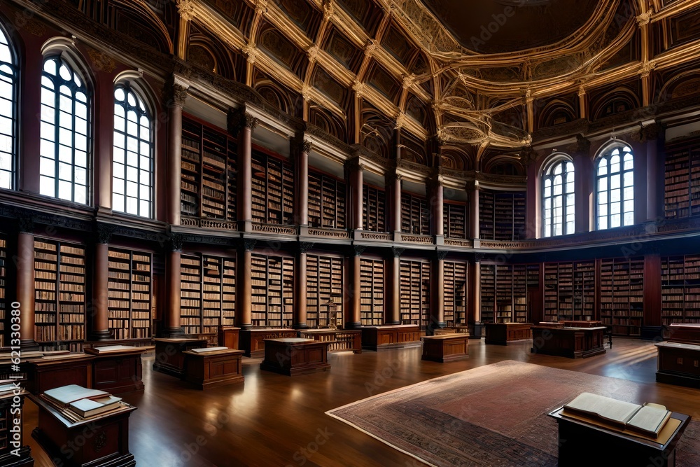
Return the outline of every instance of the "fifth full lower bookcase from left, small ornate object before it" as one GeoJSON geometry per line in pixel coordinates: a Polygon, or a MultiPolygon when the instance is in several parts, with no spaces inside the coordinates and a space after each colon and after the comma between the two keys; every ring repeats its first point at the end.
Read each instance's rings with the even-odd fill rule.
{"type": "MultiPolygon", "coordinates": [[[[329,326],[329,310],[343,311],[343,259],[307,255],[307,324],[309,328],[329,326]]],[[[342,316],[342,315],[341,315],[342,316]]],[[[342,327],[343,321],[337,321],[342,327]]]]}

